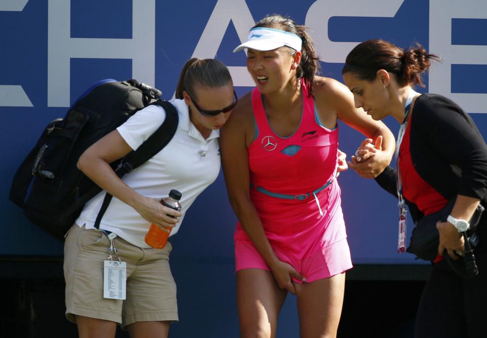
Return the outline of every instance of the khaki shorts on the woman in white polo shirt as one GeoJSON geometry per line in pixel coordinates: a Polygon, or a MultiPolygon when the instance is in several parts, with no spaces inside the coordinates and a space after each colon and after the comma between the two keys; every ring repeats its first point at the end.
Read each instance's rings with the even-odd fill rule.
{"type": "Polygon", "coordinates": [[[103,261],[110,248],[107,235],[76,224],[71,227],[64,244],[66,318],[72,322],[76,315],[104,319],[122,327],[144,321],[177,321],[170,243],[164,249],[141,249],[117,237],[114,246],[127,263],[125,300],[103,298],[103,261]]]}

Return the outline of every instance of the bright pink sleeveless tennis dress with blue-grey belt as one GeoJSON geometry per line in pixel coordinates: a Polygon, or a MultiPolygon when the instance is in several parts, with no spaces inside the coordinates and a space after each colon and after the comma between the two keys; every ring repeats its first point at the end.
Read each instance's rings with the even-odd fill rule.
{"type": "MultiPolygon", "coordinates": [[[[321,125],[314,99],[304,84],[301,88],[301,122],[286,138],[270,127],[261,93],[254,88],[256,139],[248,150],[251,199],[267,239],[276,256],[309,283],[342,273],[352,261],[335,179],[338,127],[321,125]]],[[[240,223],[234,241],[236,271],[269,270],[240,223]]]]}

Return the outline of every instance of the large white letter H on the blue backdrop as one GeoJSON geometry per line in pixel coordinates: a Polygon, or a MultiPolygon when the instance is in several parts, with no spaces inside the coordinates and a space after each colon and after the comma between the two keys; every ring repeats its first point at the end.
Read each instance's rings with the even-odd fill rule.
{"type": "Polygon", "coordinates": [[[48,107],[69,107],[71,58],[132,59],[132,77],[155,85],[155,0],[132,1],[132,39],[71,38],[71,0],[48,13],[48,107]]]}

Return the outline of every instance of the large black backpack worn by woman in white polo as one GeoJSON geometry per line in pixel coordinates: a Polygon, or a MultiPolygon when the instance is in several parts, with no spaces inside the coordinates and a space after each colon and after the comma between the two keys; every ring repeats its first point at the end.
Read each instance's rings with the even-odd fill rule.
{"type": "MultiPolygon", "coordinates": [[[[93,143],[148,105],[161,106],[164,123],[136,151],[111,163],[119,177],[164,148],[178,126],[176,108],[156,100],[161,92],[136,80],[102,80],[89,88],[68,110],[44,129],[36,146],[15,173],[9,198],[34,224],[62,239],[83,206],[101,191],[78,168],[81,154],[93,143]]],[[[112,196],[106,194],[98,213],[98,228],[112,196]]]]}

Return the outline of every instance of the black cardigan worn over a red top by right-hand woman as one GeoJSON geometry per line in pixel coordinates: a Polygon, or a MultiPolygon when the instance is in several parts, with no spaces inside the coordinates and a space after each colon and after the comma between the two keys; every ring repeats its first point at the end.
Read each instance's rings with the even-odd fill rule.
{"type": "MultiPolygon", "coordinates": [[[[460,194],[487,206],[487,145],[472,118],[444,96],[423,94],[410,123],[411,160],[421,178],[448,200],[460,194]]],[[[375,180],[397,198],[394,168],[386,167],[375,180]]],[[[423,217],[415,204],[406,204],[414,221],[423,217]]]]}

